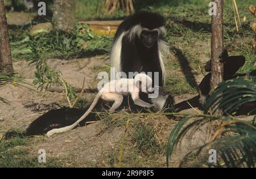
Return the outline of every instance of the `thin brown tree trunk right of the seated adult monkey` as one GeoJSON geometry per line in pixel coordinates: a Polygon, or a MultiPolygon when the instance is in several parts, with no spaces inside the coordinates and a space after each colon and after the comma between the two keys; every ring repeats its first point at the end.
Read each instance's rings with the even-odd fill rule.
{"type": "MultiPolygon", "coordinates": [[[[211,77],[210,88],[213,92],[224,79],[224,65],[221,61],[223,52],[223,6],[224,0],[214,0],[217,5],[217,15],[212,15],[212,44],[211,44],[211,77]]],[[[220,113],[218,111],[217,113],[220,113]]]]}

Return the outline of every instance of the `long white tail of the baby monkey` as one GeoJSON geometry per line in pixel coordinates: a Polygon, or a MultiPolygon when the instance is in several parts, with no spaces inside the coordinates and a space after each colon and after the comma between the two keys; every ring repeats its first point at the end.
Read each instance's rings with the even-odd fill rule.
{"type": "Polygon", "coordinates": [[[101,97],[101,92],[98,92],[96,97],[94,98],[92,104],[90,105],[90,107],[88,108],[88,110],[86,110],[86,112],[84,113],[84,115],[82,115],[79,120],[77,120],[75,123],[73,123],[72,125],[69,125],[69,126],[65,126],[65,127],[61,127],[59,129],[52,129],[52,130],[49,130],[46,135],[49,137],[53,134],[56,134],[56,133],[63,133],[65,131],[69,131],[69,130],[72,130],[74,129],[78,124],[79,122],[81,122],[82,120],[84,120],[89,114],[90,112],[92,112],[92,110],[94,109],[94,107],[96,106],[96,104],[98,103],[98,100],[100,99],[101,97]]]}

